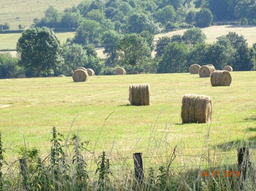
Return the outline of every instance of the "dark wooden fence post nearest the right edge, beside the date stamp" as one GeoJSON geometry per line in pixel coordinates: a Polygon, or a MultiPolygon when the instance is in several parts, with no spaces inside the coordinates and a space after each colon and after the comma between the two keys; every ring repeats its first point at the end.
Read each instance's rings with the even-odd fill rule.
{"type": "Polygon", "coordinates": [[[249,149],[246,147],[238,149],[237,158],[240,177],[242,176],[243,181],[245,181],[246,172],[249,166],[249,149]]]}

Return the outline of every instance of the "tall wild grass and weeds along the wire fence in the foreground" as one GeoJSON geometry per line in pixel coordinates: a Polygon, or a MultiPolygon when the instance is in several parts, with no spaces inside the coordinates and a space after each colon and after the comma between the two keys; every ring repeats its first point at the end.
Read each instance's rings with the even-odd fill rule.
{"type": "MultiPolygon", "coordinates": [[[[164,133],[160,140],[155,139],[152,133],[148,143],[148,146],[153,145],[150,147],[151,155],[143,159],[145,168],[141,182],[134,178],[130,156],[114,155],[112,149],[109,153],[102,151],[96,154],[95,146],[90,147],[89,142],[82,141],[78,130],[76,133],[69,131],[64,136],[53,127],[46,157],[42,157],[36,148],[26,146],[24,141],[24,145],[17,150],[18,158],[12,163],[4,161],[4,143],[0,134],[0,191],[255,190],[255,164],[249,163],[245,179],[236,176],[236,153],[209,149],[209,131],[210,127],[206,132],[203,151],[196,155],[183,153],[181,144],[170,147],[164,140],[164,133]],[[163,152],[165,149],[169,152],[163,152]],[[225,155],[231,156],[232,161],[225,155]],[[224,171],[235,173],[224,177],[224,171]]],[[[242,144],[234,143],[230,147],[237,150],[238,146],[242,144]]],[[[243,146],[253,149],[251,143],[243,146]]]]}

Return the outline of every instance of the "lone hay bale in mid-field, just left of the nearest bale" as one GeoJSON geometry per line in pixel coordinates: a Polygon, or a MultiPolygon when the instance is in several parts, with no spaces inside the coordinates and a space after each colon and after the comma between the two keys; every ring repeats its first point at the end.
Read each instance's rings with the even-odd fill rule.
{"type": "Polygon", "coordinates": [[[148,84],[129,85],[130,105],[149,105],[150,92],[148,84]]]}

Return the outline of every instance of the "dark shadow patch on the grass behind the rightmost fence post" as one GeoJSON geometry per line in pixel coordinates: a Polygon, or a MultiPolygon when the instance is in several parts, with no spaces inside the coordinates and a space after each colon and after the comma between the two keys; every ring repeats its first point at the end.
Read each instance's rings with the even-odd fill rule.
{"type": "MultiPolygon", "coordinates": [[[[252,128],[254,129],[254,128],[252,128]]],[[[217,149],[221,149],[222,151],[230,151],[230,150],[237,150],[240,147],[248,147],[251,149],[256,149],[256,136],[250,137],[247,140],[235,140],[229,141],[222,144],[218,144],[215,147],[217,149]]]]}

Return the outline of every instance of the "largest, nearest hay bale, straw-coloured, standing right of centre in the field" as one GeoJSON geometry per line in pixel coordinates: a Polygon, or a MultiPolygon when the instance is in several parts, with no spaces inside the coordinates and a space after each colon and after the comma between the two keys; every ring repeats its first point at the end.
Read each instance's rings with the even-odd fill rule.
{"type": "Polygon", "coordinates": [[[212,104],[209,96],[185,94],[182,98],[182,123],[208,123],[211,121],[212,104]]]}

